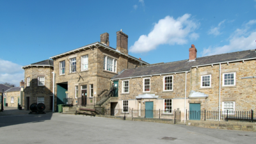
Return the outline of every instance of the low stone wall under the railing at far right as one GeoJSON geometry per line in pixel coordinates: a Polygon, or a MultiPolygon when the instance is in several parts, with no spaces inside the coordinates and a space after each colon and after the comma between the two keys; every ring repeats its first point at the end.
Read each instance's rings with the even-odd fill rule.
{"type": "Polygon", "coordinates": [[[232,122],[232,121],[203,121],[203,120],[187,120],[186,125],[195,127],[206,127],[212,129],[228,129],[238,131],[256,131],[255,122],[232,122]]]}

